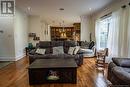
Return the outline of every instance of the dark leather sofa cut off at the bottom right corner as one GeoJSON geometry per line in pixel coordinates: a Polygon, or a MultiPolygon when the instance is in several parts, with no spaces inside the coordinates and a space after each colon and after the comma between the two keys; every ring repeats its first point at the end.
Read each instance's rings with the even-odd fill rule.
{"type": "Polygon", "coordinates": [[[114,85],[130,86],[130,58],[112,58],[108,65],[108,80],[114,85]]]}

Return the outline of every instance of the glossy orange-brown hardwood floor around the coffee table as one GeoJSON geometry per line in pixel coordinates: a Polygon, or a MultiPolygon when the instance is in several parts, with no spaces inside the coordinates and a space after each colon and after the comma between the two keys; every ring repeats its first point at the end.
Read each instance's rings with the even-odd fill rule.
{"type": "MultiPolygon", "coordinates": [[[[0,87],[107,87],[102,71],[95,68],[94,58],[84,58],[77,70],[77,84],[29,85],[28,57],[0,69],[0,87]]],[[[105,69],[105,76],[106,76],[105,69]]]]}

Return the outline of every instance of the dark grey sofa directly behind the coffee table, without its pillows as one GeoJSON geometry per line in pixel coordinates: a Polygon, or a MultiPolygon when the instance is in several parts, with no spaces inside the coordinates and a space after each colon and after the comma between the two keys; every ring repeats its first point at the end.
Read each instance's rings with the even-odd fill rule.
{"type": "Polygon", "coordinates": [[[74,58],[77,65],[80,66],[83,64],[83,54],[78,52],[75,55],[67,54],[69,47],[74,47],[77,45],[75,41],[40,41],[36,48],[46,49],[45,54],[39,55],[35,53],[35,50],[32,50],[29,53],[29,63],[31,64],[35,59],[49,59],[49,58],[74,58]],[[64,54],[53,54],[53,47],[63,46],[64,54]]]}

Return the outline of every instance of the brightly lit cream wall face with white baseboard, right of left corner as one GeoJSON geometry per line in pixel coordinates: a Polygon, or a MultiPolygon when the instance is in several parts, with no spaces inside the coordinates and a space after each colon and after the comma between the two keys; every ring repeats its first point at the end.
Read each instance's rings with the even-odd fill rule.
{"type": "Polygon", "coordinates": [[[28,45],[28,16],[19,9],[16,9],[14,17],[14,40],[15,60],[25,56],[25,47],[28,45]]]}

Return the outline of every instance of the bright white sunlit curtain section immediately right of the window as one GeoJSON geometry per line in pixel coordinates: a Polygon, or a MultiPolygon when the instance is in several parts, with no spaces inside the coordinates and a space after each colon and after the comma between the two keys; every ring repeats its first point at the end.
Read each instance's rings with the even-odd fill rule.
{"type": "Polygon", "coordinates": [[[112,13],[111,23],[108,33],[108,42],[107,47],[109,49],[109,57],[118,56],[118,37],[119,37],[119,28],[120,28],[120,14],[121,10],[112,13]]]}

